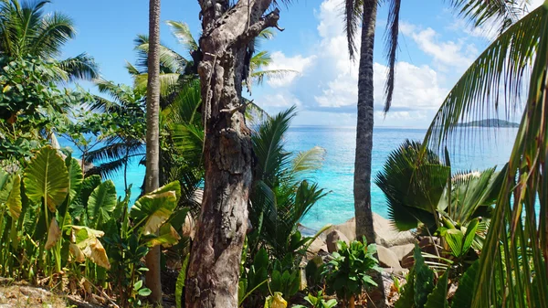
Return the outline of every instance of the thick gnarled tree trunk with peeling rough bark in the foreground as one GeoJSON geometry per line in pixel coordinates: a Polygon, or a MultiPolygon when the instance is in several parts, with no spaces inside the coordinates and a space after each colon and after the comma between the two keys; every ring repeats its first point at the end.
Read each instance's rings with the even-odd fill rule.
{"type": "Polygon", "coordinates": [[[200,0],[205,187],[187,273],[188,308],[237,307],[254,161],[241,91],[253,39],[277,26],[278,9],[264,16],[270,4],[240,0],[230,7],[228,0],[200,0]]]}

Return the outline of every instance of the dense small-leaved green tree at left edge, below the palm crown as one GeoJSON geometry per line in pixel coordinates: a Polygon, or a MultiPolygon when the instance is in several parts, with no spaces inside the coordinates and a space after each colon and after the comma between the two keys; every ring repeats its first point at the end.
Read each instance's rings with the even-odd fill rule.
{"type": "Polygon", "coordinates": [[[89,95],[58,89],[59,74],[68,77],[55,61],[4,56],[0,66],[0,160],[18,161],[32,156],[54,131],[64,133],[69,108],[88,101],[89,95]]]}

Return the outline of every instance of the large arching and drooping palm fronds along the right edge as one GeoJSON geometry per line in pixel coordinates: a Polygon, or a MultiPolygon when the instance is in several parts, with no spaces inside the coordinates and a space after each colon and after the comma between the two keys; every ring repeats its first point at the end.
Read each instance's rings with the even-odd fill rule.
{"type": "Polygon", "coordinates": [[[510,21],[449,91],[425,144],[442,149],[453,142],[458,122],[523,110],[481,251],[472,307],[548,307],[548,1],[517,22],[507,17],[511,2],[463,2],[453,1],[476,25],[490,16],[510,21]]]}

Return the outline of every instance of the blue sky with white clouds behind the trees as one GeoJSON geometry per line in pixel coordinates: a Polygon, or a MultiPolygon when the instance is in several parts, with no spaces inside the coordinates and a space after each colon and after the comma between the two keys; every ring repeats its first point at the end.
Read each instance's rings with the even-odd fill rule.
{"type": "MultiPolygon", "coordinates": [[[[532,0],[529,9],[542,3],[532,0]]],[[[448,7],[448,1],[403,1],[395,93],[391,110],[385,114],[387,6],[379,7],[375,32],[374,125],[426,128],[448,90],[489,46],[495,27],[470,27],[448,7]]],[[[47,11],[63,12],[77,28],[77,37],[68,42],[63,57],[87,52],[99,63],[104,79],[132,83],[124,65],[135,61],[133,39],[148,32],[148,1],[53,0],[47,11]]],[[[165,21],[183,21],[198,37],[198,16],[197,1],[162,0],[162,43],[188,56],[165,21]]],[[[276,36],[260,47],[273,59],[266,69],[297,73],[254,86],[246,95],[271,113],[297,105],[294,125],[355,126],[358,61],[348,57],[342,0],[282,5],[279,27],[285,30],[275,30],[276,36]]],[[[91,84],[83,86],[93,90],[91,84]]]]}

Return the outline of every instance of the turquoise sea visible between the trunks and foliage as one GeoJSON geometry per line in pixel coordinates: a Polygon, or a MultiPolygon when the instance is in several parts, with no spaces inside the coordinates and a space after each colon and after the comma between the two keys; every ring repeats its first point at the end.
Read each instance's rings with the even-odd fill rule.
{"type": "MultiPolygon", "coordinates": [[[[375,128],[372,177],[382,169],[391,151],[406,139],[422,141],[425,133],[425,129],[375,128]]],[[[449,149],[453,171],[501,167],[510,156],[516,133],[517,129],[512,128],[466,130],[459,138],[461,141],[449,149]]],[[[352,218],[355,128],[294,126],[285,142],[289,151],[305,151],[318,145],[327,153],[323,167],[311,177],[330,193],[311,208],[302,224],[319,229],[325,224],[338,224],[352,218]]],[[[128,171],[128,182],[133,184],[132,199],[140,193],[143,176],[144,167],[134,162],[128,171]]],[[[112,180],[119,194],[123,193],[123,175],[115,175],[112,180]]],[[[386,217],[384,194],[377,186],[372,187],[371,193],[374,212],[386,217]]]]}

